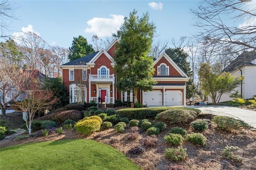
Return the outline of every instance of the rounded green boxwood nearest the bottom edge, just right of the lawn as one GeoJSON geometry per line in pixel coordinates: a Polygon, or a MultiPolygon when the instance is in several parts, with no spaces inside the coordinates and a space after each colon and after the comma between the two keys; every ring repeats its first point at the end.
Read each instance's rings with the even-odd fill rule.
{"type": "Polygon", "coordinates": [[[180,148],[168,148],[165,150],[164,156],[173,161],[184,160],[187,156],[186,149],[180,148]]]}

